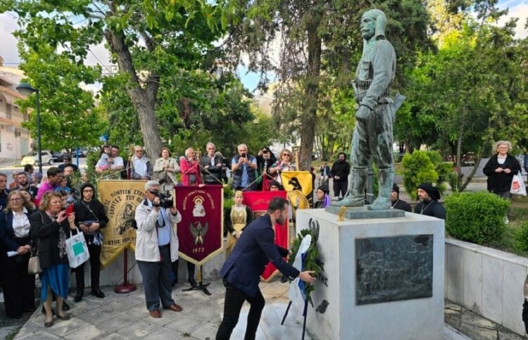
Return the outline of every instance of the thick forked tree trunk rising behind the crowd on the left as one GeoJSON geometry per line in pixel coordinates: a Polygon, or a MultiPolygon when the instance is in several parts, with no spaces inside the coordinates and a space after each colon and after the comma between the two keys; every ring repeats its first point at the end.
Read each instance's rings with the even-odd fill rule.
{"type": "Polygon", "coordinates": [[[149,75],[145,89],[142,88],[122,32],[106,30],[105,37],[111,51],[117,56],[120,72],[126,73],[130,77],[130,84],[126,87],[126,92],[139,118],[144,148],[149,158],[153,160],[152,158],[156,158],[161,149],[161,137],[156,120],[156,111],[154,111],[159,79],[149,75]]]}

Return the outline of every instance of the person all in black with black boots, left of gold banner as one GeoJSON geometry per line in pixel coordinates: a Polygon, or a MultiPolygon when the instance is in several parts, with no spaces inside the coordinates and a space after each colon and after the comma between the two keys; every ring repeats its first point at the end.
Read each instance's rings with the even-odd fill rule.
{"type": "MultiPolygon", "coordinates": [[[[103,204],[95,199],[94,186],[84,183],[81,186],[81,199],[75,203],[75,225],[84,233],[84,238],[90,253],[90,277],[92,281],[92,295],[103,298],[104,293],[99,289],[99,272],[101,271],[101,244],[103,235],[101,228],[106,227],[108,218],[103,204]]],[[[79,302],[84,295],[84,263],[75,268],[75,281],[77,282],[77,294],[73,301],[79,302]]]]}

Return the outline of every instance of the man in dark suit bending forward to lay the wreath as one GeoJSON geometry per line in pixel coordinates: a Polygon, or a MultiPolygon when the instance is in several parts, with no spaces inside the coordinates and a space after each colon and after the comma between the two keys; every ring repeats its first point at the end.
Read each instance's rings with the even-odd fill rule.
{"type": "Polygon", "coordinates": [[[288,250],[277,246],[273,240],[275,223],[282,224],[288,218],[289,202],[276,197],[270,201],[268,211],[244,228],[220,275],[225,286],[224,318],[216,333],[217,340],[230,339],[239,320],[244,301],[250,304],[246,335],[244,339],[255,339],[260,314],[264,308],[264,297],[258,288],[260,274],[270,260],[277,269],[290,279],[299,277],[304,282],[314,282],[313,272],[299,272],[286,263],[283,257],[288,250]]]}

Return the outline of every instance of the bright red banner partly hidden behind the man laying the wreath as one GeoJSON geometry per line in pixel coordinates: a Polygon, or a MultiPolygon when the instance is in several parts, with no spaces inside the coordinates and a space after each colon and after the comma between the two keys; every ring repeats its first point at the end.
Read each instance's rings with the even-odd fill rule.
{"type": "MultiPolygon", "coordinates": [[[[268,210],[268,204],[275,197],[282,197],[287,199],[286,191],[243,191],[244,204],[249,206],[255,218],[266,213],[268,210]]],[[[288,221],[285,221],[283,225],[275,225],[275,244],[282,246],[282,248],[289,248],[289,232],[288,232],[288,221]]],[[[284,258],[286,260],[286,258],[284,258]]],[[[264,271],[260,275],[264,282],[270,281],[279,271],[272,263],[268,263],[264,268],[264,271]]]]}

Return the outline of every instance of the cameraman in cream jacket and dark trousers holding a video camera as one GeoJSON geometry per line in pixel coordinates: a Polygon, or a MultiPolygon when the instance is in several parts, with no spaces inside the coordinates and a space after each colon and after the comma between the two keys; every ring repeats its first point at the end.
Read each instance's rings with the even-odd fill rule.
{"type": "Polygon", "coordinates": [[[146,309],[151,317],[158,318],[160,300],[164,309],[182,310],[172,299],[170,287],[171,263],[178,258],[174,225],[182,216],[161,193],[159,182],[146,182],[145,194],[146,199],[136,208],[136,260],[142,273],[146,309]]]}

